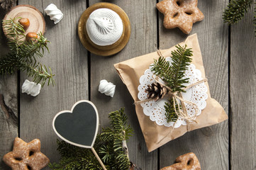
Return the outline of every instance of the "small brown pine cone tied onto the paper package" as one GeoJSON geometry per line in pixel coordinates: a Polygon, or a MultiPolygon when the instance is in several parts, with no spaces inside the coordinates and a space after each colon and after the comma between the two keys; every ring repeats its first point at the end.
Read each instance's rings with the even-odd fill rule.
{"type": "Polygon", "coordinates": [[[165,86],[161,86],[161,84],[156,82],[148,85],[146,91],[148,91],[148,98],[154,98],[155,101],[163,98],[168,93],[168,89],[165,86]]]}

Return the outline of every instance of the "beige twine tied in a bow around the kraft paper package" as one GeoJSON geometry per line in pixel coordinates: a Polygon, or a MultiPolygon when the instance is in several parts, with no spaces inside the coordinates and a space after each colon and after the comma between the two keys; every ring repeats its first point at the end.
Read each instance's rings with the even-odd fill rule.
{"type": "MultiPolygon", "coordinates": [[[[160,57],[163,57],[162,52],[160,50],[157,50],[157,54],[160,57]]],[[[165,84],[162,84],[160,81],[158,81],[158,79],[159,79],[159,77],[156,77],[155,81],[157,83],[159,83],[161,86],[165,87],[168,90],[168,93],[166,95],[172,97],[175,113],[178,115],[179,118],[182,118],[182,119],[186,120],[186,122],[187,122],[187,131],[190,131],[191,130],[190,123],[192,123],[192,122],[198,123],[198,121],[195,120],[195,119],[196,119],[196,115],[199,113],[199,107],[194,102],[184,100],[184,98],[182,97],[182,93],[180,93],[179,91],[172,92],[172,89],[169,86],[166,86],[165,84]],[[194,115],[192,115],[192,116],[188,115],[185,103],[191,105],[194,108],[194,110],[195,110],[195,114],[194,115]],[[176,109],[176,105],[178,106],[178,111],[176,109]],[[180,105],[182,106],[182,108],[180,108],[180,105]]],[[[187,89],[189,89],[189,88],[191,88],[193,86],[201,84],[201,83],[203,83],[205,81],[208,81],[208,79],[206,79],[206,78],[205,79],[201,79],[200,81],[197,81],[194,84],[190,84],[189,86],[184,88],[184,91],[186,91],[187,89]]],[[[148,98],[148,99],[145,99],[144,101],[135,101],[135,104],[145,103],[147,101],[152,101],[152,100],[154,100],[154,98],[148,98]]],[[[174,123],[174,125],[172,127],[172,130],[165,137],[167,137],[169,134],[172,134],[172,131],[174,130],[175,124],[176,124],[176,122],[174,123]]],[[[162,140],[164,140],[165,137],[163,137],[162,140]]],[[[160,142],[162,142],[162,140],[157,142],[157,145],[160,142]]]]}

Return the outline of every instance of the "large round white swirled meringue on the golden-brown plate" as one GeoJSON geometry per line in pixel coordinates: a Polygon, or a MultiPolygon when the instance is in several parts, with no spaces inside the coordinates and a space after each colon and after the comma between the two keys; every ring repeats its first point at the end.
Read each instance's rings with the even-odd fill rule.
{"type": "Polygon", "coordinates": [[[112,45],[123,34],[123,21],[109,8],[93,11],[87,20],[87,34],[96,45],[112,45]]]}

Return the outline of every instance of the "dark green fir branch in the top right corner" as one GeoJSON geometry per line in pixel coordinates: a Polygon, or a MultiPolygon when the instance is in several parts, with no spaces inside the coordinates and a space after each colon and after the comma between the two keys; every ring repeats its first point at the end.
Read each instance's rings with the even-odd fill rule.
{"type": "Polygon", "coordinates": [[[238,23],[248,11],[252,4],[252,0],[231,0],[223,12],[224,23],[238,23]]]}

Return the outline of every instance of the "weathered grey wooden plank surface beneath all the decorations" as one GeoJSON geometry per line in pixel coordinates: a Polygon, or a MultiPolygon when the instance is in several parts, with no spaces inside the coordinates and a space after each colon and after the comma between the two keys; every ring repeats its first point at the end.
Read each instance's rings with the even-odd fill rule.
{"type": "MultiPolygon", "coordinates": [[[[243,21],[229,28],[222,20],[228,0],[199,0],[205,18],[194,24],[191,34],[197,33],[199,37],[211,96],[225,108],[229,120],[188,132],[148,153],[133,99],[113,64],[158,48],[172,47],[185,40],[187,35],[178,28],[163,28],[163,15],[155,8],[156,0],[109,0],[128,14],[130,41],[117,55],[93,55],[79,41],[77,23],[82,12],[96,2],[100,1],[18,1],[18,4],[33,5],[43,13],[48,4],[54,3],[64,13],[64,18],[55,25],[45,16],[45,37],[51,44],[50,54],[45,54],[42,62],[56,74],[56,86],[45,86],[34,98],[21,94],[26,74],[17,72],[0,77],[0,159],[11,150],[13,140],[18,136],[26,142],[40,139],[41,151],[51,162],[57,162],[57,136],[52,130],[52,118],[59,111],[69,110],[76,101],[89,99],[98,108],[101,127],[108,125],[109,112],[126,108],[129,123],[135,130],[128,142],[130,159],[142,169],[169,166],[176,157],[187,152],[197,155],[203,170],[256,169],[256,38],[253,36],[252,10],[243,21]],[[98,92],[101,79],[116,84],[113,98],[98,92]]],[[[1,19],[4,13],[0,11],[1,19]]],[[[5,43],[6,40],[1,40],[1,53],[6,52],[5,43]]],[[[1,162],[0,169],[9,167],[1,162]]]]}

